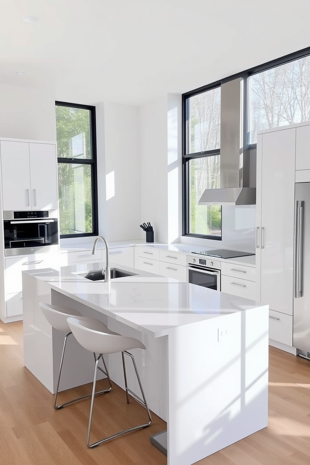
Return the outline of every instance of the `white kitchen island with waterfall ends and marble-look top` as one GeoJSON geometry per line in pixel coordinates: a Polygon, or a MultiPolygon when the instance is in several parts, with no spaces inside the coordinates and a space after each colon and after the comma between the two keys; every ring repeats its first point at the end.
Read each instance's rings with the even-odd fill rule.
{"type": "MultiPolygon", "coordinates": [[[[267,426],[268,306],[139,270],[111,283],[79,274],[99,268],[23,272],[25,366],[50,392],[64,334],[48,325],[40,301],[76,308],[145,344],[132,353],[150,409],[167,422],[168,465],[193,464],[267,426]]],[[[71,337],[60,390],[93,377],[92,354],[71,337]]],[[[120,354],[107,361],[124,388],[120,354]]]]}

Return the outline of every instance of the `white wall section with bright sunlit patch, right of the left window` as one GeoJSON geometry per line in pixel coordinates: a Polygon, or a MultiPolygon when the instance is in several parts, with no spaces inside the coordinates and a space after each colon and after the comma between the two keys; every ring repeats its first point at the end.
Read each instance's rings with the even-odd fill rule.
{"type": "Polygon", "coordinates": [[[99,234],[107,240],[140,235],[140,139],[137,106],[96,106],[99,234]]]}

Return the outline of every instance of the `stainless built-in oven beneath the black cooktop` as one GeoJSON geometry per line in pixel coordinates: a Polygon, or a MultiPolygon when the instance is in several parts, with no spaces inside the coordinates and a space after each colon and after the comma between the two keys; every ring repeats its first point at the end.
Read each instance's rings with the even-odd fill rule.
{"type": "Polygon", "coordinates": [[[187,255],[187,281],[220,291],[221,262],[187,255]]]}

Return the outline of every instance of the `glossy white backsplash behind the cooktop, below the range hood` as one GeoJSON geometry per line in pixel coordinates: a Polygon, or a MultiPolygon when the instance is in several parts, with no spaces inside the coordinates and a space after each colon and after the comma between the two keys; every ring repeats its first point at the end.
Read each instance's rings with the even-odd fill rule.
{"type": "Polygon", "coordinates": [[[182,236],[181,242],[217,249],[255,252],[255,205],[222,206],[222,240],[182,236]]]}

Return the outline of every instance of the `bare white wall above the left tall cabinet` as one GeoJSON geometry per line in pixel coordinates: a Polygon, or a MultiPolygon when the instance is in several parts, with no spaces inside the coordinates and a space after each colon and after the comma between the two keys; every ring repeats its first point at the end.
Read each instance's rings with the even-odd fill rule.
{"type": "Polygon", "coordinates": [[[0,84],[0,136],[56,141],[53,89],[0,84]]]}

